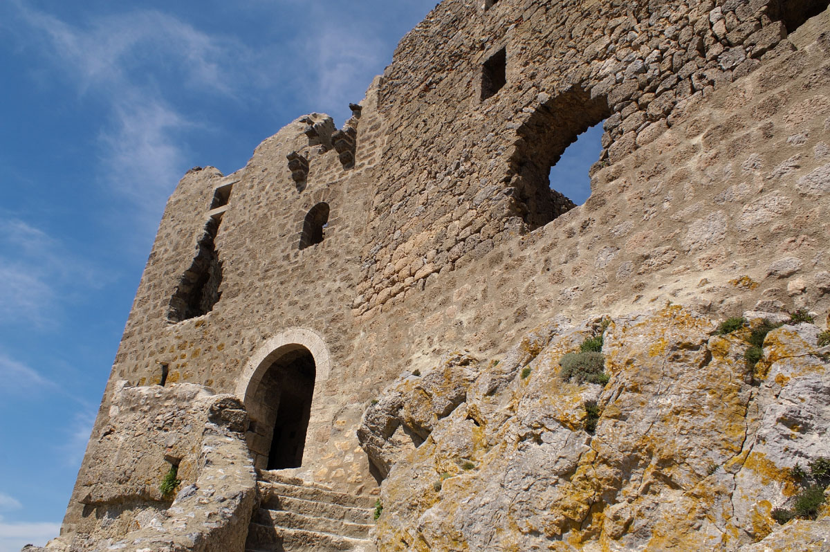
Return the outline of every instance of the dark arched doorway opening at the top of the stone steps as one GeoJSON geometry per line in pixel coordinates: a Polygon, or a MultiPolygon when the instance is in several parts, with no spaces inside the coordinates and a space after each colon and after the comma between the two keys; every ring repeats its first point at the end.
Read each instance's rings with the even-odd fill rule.
{"type": "Polygon", "coordinates": [[[277,353],[250,398],[249,446],[256,466],[267,470],[302,465],[316,379],[309,349],[295,345],[277,353]]]}

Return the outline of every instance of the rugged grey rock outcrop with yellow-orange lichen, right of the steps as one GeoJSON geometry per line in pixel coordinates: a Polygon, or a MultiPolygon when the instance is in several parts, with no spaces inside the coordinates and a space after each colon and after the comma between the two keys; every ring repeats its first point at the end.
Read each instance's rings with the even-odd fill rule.
{"type": "Polygon", "coordinates": [[[554,320],[499,361],[406,374],[359,432],[388,472],[378,550],[828,550],[830,518],[770,516],[790,468],[830,457],[818,327],[771,331],[752,368],[749,328],[716,328],[671,305],[554,320]],[[564,381],[561,357],[603,330],[608,383],[564,381]]]}

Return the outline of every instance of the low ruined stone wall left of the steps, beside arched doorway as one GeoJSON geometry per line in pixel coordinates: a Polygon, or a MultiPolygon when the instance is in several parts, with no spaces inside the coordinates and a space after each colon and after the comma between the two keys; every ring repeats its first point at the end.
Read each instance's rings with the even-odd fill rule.
{"type": "Polygon", "coordinates": [[[79,475],[80,515],[42,550],[242,552],[256,504],[246,427],[232,395],[120,383],[109,423],[90,441],[95,462],[79,475]]]}

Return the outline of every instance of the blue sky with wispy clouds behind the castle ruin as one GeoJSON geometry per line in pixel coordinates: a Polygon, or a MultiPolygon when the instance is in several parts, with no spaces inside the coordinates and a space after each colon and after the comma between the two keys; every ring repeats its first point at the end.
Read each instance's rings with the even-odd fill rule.
{"type": "Polygon", "coordinates": [[[178,178],[342,125],[434,5],[0,2],[0,552],[57,535],[178,178]]]}

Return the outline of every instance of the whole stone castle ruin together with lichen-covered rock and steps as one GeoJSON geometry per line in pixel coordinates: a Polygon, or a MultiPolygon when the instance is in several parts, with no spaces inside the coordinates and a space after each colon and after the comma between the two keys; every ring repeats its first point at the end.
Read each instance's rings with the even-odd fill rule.
{"type": "Polygon", "coordinates": [[[826,0],[444,0],[351,110],[178,184],[47,550],[830,550],[774,517],[830,457],[826,0]]]}

